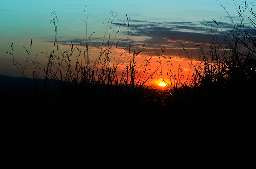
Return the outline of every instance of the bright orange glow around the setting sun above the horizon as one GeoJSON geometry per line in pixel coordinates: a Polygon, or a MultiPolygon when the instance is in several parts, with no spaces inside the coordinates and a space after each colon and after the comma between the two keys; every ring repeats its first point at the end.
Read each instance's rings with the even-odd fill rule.
{"type": "MultiPolygon", "coordinates": [[[[35,42],[35,44],[37,43],[35,42]]],[[[47,45],[48,45],[48,42],[44,42],[44,44],[40,44],[40,47],[41,46],[47,47],[47,45]]],[[[84,53],[84,50],[86,47],[82,45],[80,46],[77,44],[73,44],[73,48],[72,50],[70,50],[71,46],[72,44],[58,45],[59,49],[62,49],[63,47],[63,51],[61,50],[61,54],[63,53],[63,57],[70,55],[69,56],[70,67],[74,68],[77,64],[86,66],[85,63],[87,61],[87,55],[85,55],[84,53]],[[65,51],[66,49],[67,51],[65,51]],[[80,53],[78,49],[79,51],[81,50],[80,53]]],[[[40,47],[38,47],[39,48],[38,50],[42,50],[40,47]]],[[[46,47],[44,48],[47,50],[46,47]]],[[[107,53],[108,61],[110,63],[108,63],[108,65],[107,64],[105,65],[104,61],[106,61],[105,60],[106,55],[103,55],[106,53],[104,52],[105,49],[106,47],[101,48],[101,46],[100,47],[90,46],[88,49],[88,52],[90,54],[89,64],[93,65],[94,62],[97,61],[97,59],[99,59],[100,63],[102,62],[102,64],[100,64],[99,69],[105,70],[106,68],[105,66],[108,66],[106,69],[108,68],[113,69],[115,71],[114,73],[116,74],[116,78],[120,82],[121,82],[120,79],[122,79],[122,76],[124,75],[123,73],[127,73],[128,79],[126,79],[126,81],[130,81],[129,79],[130,73],[131,73],[130,69],[132,66],[134,66],[135,80],[137,82],[144,81],[144,79],[149,78],[145,84],[152,88],[158,88],[158,89],[172,88],[176,83],[178,83],[178,86],[179,86],[180,85],[179,82],[184,83],[184,81],[186,81],[187,78],[190,78],[191,73],[193,71],[190,69],[192,67],[192,63],[190,59],[186,57],[181,57],[180,55],[173,55],[172,53],[168,53],[167,49],[166,49],[167,55],[164,55],[164,57],[154,55],[151,53],[149,54],[143,51],[140,53],[141,55],[137,55],[136,58],[134,59],[136,62],[132,63],[130,62],[130,57],[131,59],[133,59],[132,53],[129,53],[129,51],[127,51],[126,49],[113,48],[113,51],[107,53]],[[145,64],[148,64],[147,67],[144,67],[145,64]]],[[[150,48],[143,47],[143,49],[150,49],[150,48]]],[[[45,57],[44,55],[49,56],[50,52],[42,54],[42,57],[38,57],[40,59],[39,61],[40,63],[41,62],[47,63],[47,57],[45,57]]],[[[55,55],[57,56],[58,53],[55,53],[55,55]]],[[[26,55],[24,55],[24,57],[26,57],[26,55]]],[[[42,65],[41,68],[44,69],[46,66],[47,65],[44,64],[42,65]]],[[[26,70],[28,71],[27,76],[33,77],[33,75],[30,75],[30,72],[33,72],[33,71],[30,71],[30,69],[33,70],[33,67],[29,67],[29,66],[26,67],[26,70]]]]}

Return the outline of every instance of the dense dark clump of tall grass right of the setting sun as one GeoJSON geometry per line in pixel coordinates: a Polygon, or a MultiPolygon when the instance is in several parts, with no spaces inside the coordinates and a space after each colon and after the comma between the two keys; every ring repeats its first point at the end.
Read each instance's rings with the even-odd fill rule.
{"type": "MultiPolygon", "coordinates": [[[[221,6],[226,11],[225,6],[221,6]]],[[[210,37],[209,51],[198,45],[199,57],[192,58],[183,48],[191,59],[194,73],[190,87],[183,84],[182,90],[186,92],[179,96],[179,102],[195,105],[192,100],[200,100],[198,112],[211,105],[222,106],[230,112],[238,104],[246,105],[236,109],[243,112],[252,104],[250,97],[255,94],[256,82],[256,15],[246,2],[236,9],[238,20],[226,11],[232,28],[222,28],[221,20],[205,21],[210,37]]]]}

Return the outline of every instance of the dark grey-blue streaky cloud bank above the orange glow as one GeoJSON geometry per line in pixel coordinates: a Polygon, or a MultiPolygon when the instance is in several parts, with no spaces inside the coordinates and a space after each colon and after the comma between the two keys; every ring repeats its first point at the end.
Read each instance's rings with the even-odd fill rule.
{"type": "MultiPolygon", "coordinates": [[[[161,51],[161,48],[166,48],[170,51],[181,50],[181,45],[185,43],[185,47],[191,50],[198,50],[198,46],[209,47],[208,43],[212,40],[212,36],[216,39],[223,38],[223,34],[215,30],[215,28],[221,28],[219,30],[227,31],[234,29],[234,25],[225,22],[214,22],[212,21],[202,21],[202,22],[148,22],[146,20],[129,20],[121,23],[115,22],[113,25],[119,27],[121,30],[119,35],[122,39],[116,39],[113,43],[117,44],[118,47],[125,48],[130,46],[131,51],[138,50],[142,45],[144,45],[146,53],[152,53],[156,51],[161,51]],[[129,30],[130,43],[128,44],[127,37],[129,30]]],[[[112,26],[112,28],[115,28],[112,26]]],[[[253,30],[253,29],[252,29],[253,30]]],[[[111,37],[112,38],[112,37],[111,37]]],[[[112,42],[110,38],[110,42],[112,42]]],[[[119,37],[118,37],[119,38],[119,37]]],[[[86,45],[86,39],[69,39],[61,40],[58,43],[71,44],[74,45],[86,45]]],[[[90,41],[90,46],[99,47],[100,45],[109,45],[107,39],[93,38],[90,41]],[[104,42],[105,41],[105,42],[104,42]]],[[[170,53],[169,53],[170,54],[170,53]]],[[[172,53],[173,54],[173,53],[172,53]]]]}

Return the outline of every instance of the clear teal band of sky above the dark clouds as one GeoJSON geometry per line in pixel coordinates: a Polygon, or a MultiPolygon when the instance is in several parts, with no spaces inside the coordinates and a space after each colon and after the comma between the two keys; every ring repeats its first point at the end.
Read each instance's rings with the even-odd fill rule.
{"type": "MultiPolygon", "coordinates": [[[[234,11],[233,0],[220,0],[234,11]]],[[[84,33],[84,9],[88,15],[88,31],[104,31],[103,20],[110,11],[117,12],[116,19],[126,20],[126,14],[133,20],[202,21],[225,14],[216,0],[1,0],[1,39],[11,43],[13,39],[44,39],[54,35],[50,24],[51,13],[56,12],[61,37],[84,33]]],[[[131,23],[132,24],[132,23],[131,23]]],[[[3,41],[1,41],[3,43],[3,41]]]]}

